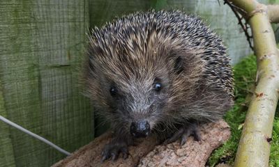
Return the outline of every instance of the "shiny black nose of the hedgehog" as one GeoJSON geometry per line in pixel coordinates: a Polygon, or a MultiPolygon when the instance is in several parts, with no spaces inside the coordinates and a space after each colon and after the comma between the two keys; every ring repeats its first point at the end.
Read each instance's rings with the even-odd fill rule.
{"type": "Polygon", "coordinates": [[[130,126],[130,133],[136,138],[148,136],[150,133],[149,122],[147,122],[146,120],[132,122],[130,126]]]}

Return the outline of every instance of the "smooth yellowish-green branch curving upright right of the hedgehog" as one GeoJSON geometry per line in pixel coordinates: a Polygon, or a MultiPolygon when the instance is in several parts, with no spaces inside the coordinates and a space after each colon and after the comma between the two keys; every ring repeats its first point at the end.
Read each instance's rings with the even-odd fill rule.
{"type": "Polygon", "coordinates": [[[279,52],[271,22],[278,22],[278,6],[255,0],[229,0],[247,19],[257,56],[257,86],[244,123],[234,166],[269,166],[273,118],[279,97],[279,52]],[[271,9],[269,11],[269,9],[271,9]]]}

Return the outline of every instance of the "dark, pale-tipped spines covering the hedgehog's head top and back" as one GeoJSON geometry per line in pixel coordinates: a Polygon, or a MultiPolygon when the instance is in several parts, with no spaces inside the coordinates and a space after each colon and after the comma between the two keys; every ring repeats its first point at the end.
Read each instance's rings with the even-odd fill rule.
{"type": "MultiPolygon", "coordinates": [[[[150,33],[180,45],[183,49],[197,54],[204,62],[202,77],[223,88],[233,97],[232,68],[222,40],[204,25],[198,17],[186,15],[181,11],[149,11],[123,16],[116,21],[107,23],[102,29],[95,29],[91,38],[93,49],[100,49],[105,54],[96,55],[99,61],[110,61],[112,54],[118,51],[117,45],[133,55],[138,51],[146,51],[147,41],[152,38],[150,33]],[[137,45],[137,49],[135,49],[137,45]]],[[[129,58],[129,57],[127,57],[129,58]]],[[[140,59],[140,58],[137,58],[140,59]]]]}

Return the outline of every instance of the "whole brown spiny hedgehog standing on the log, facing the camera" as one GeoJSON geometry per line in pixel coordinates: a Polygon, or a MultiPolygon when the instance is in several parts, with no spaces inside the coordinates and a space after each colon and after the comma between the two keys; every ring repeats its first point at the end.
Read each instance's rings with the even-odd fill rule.
{"type": "Polygon", "coordinates": [[[227,49],[195,15],[137,12],[93,29],[89,39],[86,95],[114,132],[102,161],[128,157],[135,138],[151,134],[165,144],[199,141],[198,126],[234,103],[227,49]]]}

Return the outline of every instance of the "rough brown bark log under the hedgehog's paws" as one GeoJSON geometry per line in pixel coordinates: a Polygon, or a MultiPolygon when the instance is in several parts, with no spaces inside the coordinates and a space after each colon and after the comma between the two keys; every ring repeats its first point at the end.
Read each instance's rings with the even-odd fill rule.
{"type": "Polygon", "coordinates": [[[112,133],[107,132],[52,167],[205,166],[211,152],[227,141],[230,131],[223,120],[202,125],[200,129],[202,134],[200,142],[190,137],[183,146],[180,146],[179,142],[156,146],[156,138],[150,136],[129,147],[128,159],[119,157],[116,161],[101,163],[100,152],[112,138],[112,133]]]}

